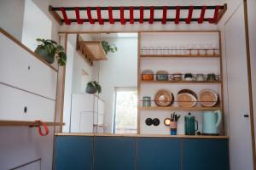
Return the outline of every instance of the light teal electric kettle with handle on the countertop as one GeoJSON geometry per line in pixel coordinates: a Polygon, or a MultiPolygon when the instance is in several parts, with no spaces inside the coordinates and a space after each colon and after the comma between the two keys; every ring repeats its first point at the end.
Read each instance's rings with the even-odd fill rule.
{"type": "Polygon", "coordinates": [[[218,135],[218,127],[222,121],[221,111],[205,111],[203,113],[203,135],[218,135]]]}

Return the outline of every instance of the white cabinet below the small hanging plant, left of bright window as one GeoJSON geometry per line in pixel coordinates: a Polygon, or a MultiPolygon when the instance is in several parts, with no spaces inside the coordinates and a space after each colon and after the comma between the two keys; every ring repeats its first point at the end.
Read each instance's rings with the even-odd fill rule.
{"type": "Polygon", "coordinates": [[[73,94],[72,133],[93,133],[93,126],[104,123],[104,101],[93,94],[73,94]]]}

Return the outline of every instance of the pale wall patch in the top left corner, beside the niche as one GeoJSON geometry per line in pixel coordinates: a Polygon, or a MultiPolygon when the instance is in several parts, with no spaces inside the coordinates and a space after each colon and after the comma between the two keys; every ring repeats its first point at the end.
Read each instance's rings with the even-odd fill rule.
{"type": "Polygon", "coordinates": [[[0,26],[21,41],[25,0],[0,0],[0,26]]]}

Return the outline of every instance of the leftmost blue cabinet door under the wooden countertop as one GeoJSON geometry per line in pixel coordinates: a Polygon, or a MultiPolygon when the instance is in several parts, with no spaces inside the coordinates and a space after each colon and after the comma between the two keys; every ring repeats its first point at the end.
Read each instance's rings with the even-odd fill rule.
{"type": "Polygon", "coordinates": [[[55,170],[91,170],[93,137],[57,136],[55,170]]]}

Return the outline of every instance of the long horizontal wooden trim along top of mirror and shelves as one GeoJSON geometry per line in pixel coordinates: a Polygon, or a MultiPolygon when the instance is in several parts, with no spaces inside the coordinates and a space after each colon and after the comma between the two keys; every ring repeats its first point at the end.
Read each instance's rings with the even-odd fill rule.
{"type": "Polygon", "coordinates": [[[219,32],[219,30],[187,30],[187,31],[59,31],[59,34],[98,34],[98,33],[154,33],[154,32],[219,32]]]}

